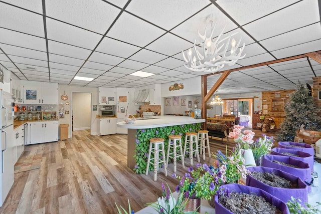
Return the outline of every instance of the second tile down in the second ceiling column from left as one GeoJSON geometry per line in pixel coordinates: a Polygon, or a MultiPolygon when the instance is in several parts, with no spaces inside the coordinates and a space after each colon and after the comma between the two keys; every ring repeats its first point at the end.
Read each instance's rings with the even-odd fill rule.
{"type": "Polygon", "coordinates": [[[53,19],[46,18],[46,22],[47,37],[50,40],[93,50],[101,39],[101,35],[99,34],[58,22],[53,19]],[[68,36],[66,37],[66,35],[68,36]]]}

